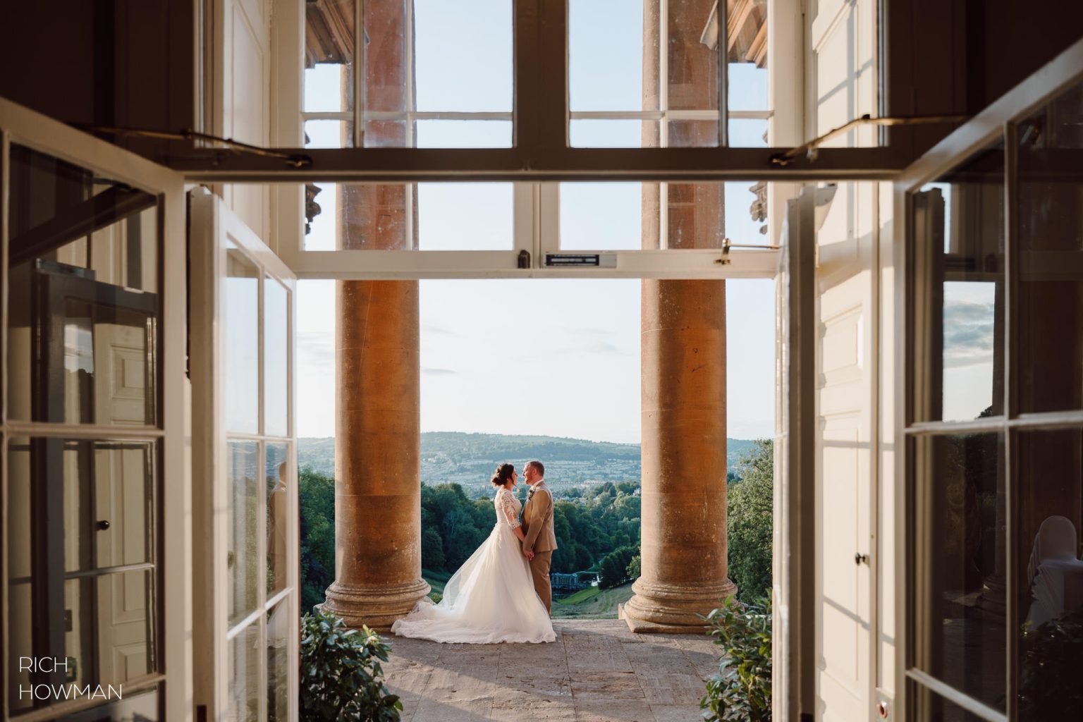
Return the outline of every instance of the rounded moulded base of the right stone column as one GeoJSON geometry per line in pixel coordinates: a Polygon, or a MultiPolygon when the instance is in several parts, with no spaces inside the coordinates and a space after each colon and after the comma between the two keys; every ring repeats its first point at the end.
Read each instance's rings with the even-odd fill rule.
{"type": "Polygon", "coordinates": [[[729,579],[694,585],[637,579],[631,589],[635,594],[623,605],[619,616],[631,631],[640,633],[702,632],[703,617],[738,592],[729,579]]]}

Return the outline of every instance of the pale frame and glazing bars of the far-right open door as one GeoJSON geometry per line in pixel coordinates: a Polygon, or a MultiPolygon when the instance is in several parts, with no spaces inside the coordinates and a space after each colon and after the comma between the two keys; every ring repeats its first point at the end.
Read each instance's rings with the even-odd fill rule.
{"type": "Polygon", "coordinates": [[[1005,389],[1005,410],[1004,415],[991,419],[980,419],[976,421],[921,421],[912,419],[911,379],[913,378],[914,359],[911,350],[910,331],[904,336],[903,342],[898,344],[896,351],[896,383],[895,383],[895,412],[896,412],[896,444],[898,450],[895,454],[895,475],[899,480],[896,484],[895,509],[896,529],[900,530],[900,541],[896,546],[896,568],[900,570],[902,583],[896,585],[896,609],[898,611],[897,629],[902,633],[898,634],[896,645],[896,714],[901,714],[903,720],[910,720],[913,712],[908,709],[910,694],[908,692],[908,681],[932,690],[944,699],[971,712],[979,713],[986,719],[993,720],[1016,720],[1018,719],[1018,698],[1016,690],[1016,678],[1018,671],[1018,629],[1019,609],[1015,602],[1015,590],[1017,589],[1016,569],[1018,567],[1018,550],[1013,539],[1016,535],[1014,517],[1016,515],[1016,469],[1014,461],[1014,446],[1017,443],[1017,433],[1021,430],[1055,430],[1065,428],[1083,429],[1083,410],[1049,411],[1042,413],[1020,415],[1015,398],[1016,383],[1014,377],[1017,373],[1016,364],[1016,338],[1017,329],[1013,324],[1013,286],[1017,283],[1016,253],[1017,232],[1015,228],[1018,174],[1016,173],[1015,155],[1016,150],[1012,146],[1015,139],[1015,126],[1018,121],[1034,113],[1042,105],[1053,97],[1083,81],[1083,40],[1069,47],[1057,57],[1043,66],[1036,73],[1005,93],[988,108],[975,116],[968,122],[956,129],[940,143],[934,146],[928,153],[901,172],[896,180],[893,187],[893,215],[896,219],[896,244],[895,244],[895,306],[896,327],[909,329],[912,323],[909,317],[909,278],[906,262],[911,239],[911,228],[909,224],[910,199],[913,193],[919,191],[926,183],[935,181],[937,178],[949,172],[961,162],[969,158],[974,153],[980,150],[999,137],[1005,140],[1005,303],[1007,313],[1005,315],[1005,364],[1004,364],[1004,389],[1005,389]],[[928,675],[918,669],[910,666],[912,651],[910,649],[910,639],[913,632],[912,617],[913,608],[910,604],[909,580],[912,575],[914,561],[911,559],[910,548],[915,542],[911,537],[909,518],[912,510],[909,508],[909,494],[913,487],[913,471],[909,459],[909,454],[904,449],[909,448],[910,439],[924,435],[948,435],[961,432],[990,431],[1002,432],[1005,445],[1005,506],[1006,506],[1006,536],[1008,539],[1007,561],[1006,561],[1006,588],[1008,590],[1007,620],[1006,620],[1006,651],[1005,651],[1005,691],[1007,693],[1007,707],[1005,713],[991,710],[981,701],[954,690],[947,684],[931,684],[928,675]]]}

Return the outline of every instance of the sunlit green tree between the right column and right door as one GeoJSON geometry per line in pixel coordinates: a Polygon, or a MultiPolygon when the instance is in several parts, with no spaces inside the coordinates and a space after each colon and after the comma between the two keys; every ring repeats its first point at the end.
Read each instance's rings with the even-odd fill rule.
{"type": "Polygon", "coordinates": [[[774,509],[774,446],[757,439],[742,455],[741,480],[727,488],[729,575],[745,601],[771,594],[771,543],[774,509]]]}

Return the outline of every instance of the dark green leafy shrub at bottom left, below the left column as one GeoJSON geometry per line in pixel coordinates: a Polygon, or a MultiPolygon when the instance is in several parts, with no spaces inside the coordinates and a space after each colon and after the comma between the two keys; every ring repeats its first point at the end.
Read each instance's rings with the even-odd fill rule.
{"type": "Polygon", "coordinates": [[[348,629],[329,612],[301,618],[302,722],[396,722],[403,708],[383,685],[390,647],[363,627],[348,629]]]}

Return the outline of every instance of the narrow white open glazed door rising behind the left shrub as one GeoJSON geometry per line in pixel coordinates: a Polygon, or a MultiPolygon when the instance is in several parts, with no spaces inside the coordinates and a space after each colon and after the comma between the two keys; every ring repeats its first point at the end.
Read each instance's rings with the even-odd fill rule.
{"type": "Polygon", "coordinates": [[[196,706],[297,719],[296,281],[218,196],[191,211],[196,706]]]}

